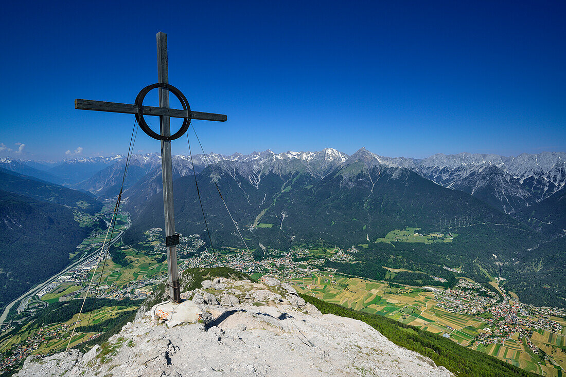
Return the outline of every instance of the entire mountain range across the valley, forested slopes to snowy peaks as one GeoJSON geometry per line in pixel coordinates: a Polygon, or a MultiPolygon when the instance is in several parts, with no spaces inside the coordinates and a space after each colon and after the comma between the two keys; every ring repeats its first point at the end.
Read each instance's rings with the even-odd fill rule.
{"type": "MultiPolygon", "coordinates": [[[[0,166],[49,174],[52,181],[103,201],[117,196],[125,157],[74,159],[47,171],[12,159],[0,160],[0,166]]],[[[201,201],[213,245],[243,246],[220,190],[239,231],[260,258],[312,242],[344,248],[363,244],[358,246],[362,252],[357,254],[357,275],[380,278],[381,266],[388,266],[453,279],[443,268],[447,266],[462,267],[474,280],[487,282],[503,271],[513,280],[510,287],[528,292],[542,271],[548,281],[559,278],[556,255],[566,251],[561,241],[566,228],[566,153],[413,159],[383,157],[364,148],[352,155],[327,148],[196,154],[192,159],[176,155],[173,179],[178,232],[207,239],[201,201]],[[406,227],[456,236],[452,242],[432,244],[376,242],[406,227]],[[558,242],[554,255],[549,255],[548,242],[558,242]],[[531,268],[533,263],[539,268],[531,268]]],[[[160,156],[132,156],[122,195],[123,208],[132,218],[126,242],[136,244],[147,229],[162,227],[160,191],[160,156]]],[[[342,272],[351,266],[332,265],[342,272]]],[[[548,287],[531,301],[566,305],[564,284],[548,287]]]]}

